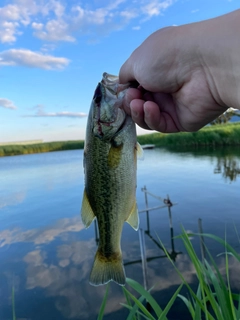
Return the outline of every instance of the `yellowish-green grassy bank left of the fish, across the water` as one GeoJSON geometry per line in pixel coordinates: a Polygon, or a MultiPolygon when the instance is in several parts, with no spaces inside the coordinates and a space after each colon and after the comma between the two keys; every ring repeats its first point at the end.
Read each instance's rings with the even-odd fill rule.
{"type": "Polygon", "coordinates": [[[28,145],[3,145],[0,146],[0,157],[20,154],[42,153],[51,151],[82,149],[84,141],[56,141],[28,145]]]}

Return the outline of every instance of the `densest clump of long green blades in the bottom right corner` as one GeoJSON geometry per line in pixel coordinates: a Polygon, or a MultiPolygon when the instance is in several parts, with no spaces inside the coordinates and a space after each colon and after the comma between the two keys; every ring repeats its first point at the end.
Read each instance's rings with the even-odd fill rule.
{"type": "MultiPolygon", "coordinates": [[[[212,238],[224,246],[226,281],[222,276],[214,258],[205,246],[207,259],[201,261],[193,248],[189,237],[196,234],[187,234],[183,229],[179,238],[183,241],[191,262],[194,265],[196,276],[198,278],[197,293],[194,293],[189,284],[185,281],[182,274],[174,268],[181,277],[183,283],[187,286],[190,298],[179,295],[179,298],[186,304],[192,319],[200,320],[204,314],[205,319],[237,320],[240,318],[240,295],[231,291],[229,278],[229,255],[240,262],[240,255],[226,242],[219,237],[210,234],[201,236],[212,238]]],[[[166,252],[167,254],[167,252],[166,252]]]]}

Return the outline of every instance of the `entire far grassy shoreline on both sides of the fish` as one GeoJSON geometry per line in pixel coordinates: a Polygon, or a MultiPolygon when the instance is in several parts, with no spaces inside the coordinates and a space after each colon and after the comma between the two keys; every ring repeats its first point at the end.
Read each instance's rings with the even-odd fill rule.
{"type": "MultiPolygon", "coordinates": [[[[155,147],[205,147],[240,146],[240,122],[211,125],[197,132],[160,133],[141,135],[137,140],[142,145],[155,147]]],[[[84,148],[83,140],[43,142],[37,144],[0,145],[0,157],[84,148]]]]}

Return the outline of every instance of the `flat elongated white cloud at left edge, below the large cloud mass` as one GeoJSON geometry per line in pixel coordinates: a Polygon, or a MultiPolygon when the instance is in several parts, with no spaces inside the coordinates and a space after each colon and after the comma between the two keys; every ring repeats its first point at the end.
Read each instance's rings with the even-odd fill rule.
{"type": "Polygon", "coordinates": [[[45,70],[63,69],[69,64],[66,58],[44,55],[26,49],[10,49],[0,52],[0,66],[25,66],[45,70]]]}

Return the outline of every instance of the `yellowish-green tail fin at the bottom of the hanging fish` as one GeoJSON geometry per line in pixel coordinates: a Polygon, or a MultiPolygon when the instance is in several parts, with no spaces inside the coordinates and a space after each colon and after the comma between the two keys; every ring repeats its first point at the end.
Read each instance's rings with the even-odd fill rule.
{"type": "Polygon", "coordinates": [[[121,253],[113,253],[109,257],[104,256],[99,250],[96,253],[90,274],[90,284],[100,286],[115,281],[120,286],[124,286],[126,276],[122,264],[121,253]]]}

